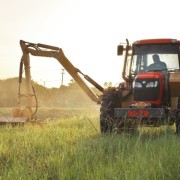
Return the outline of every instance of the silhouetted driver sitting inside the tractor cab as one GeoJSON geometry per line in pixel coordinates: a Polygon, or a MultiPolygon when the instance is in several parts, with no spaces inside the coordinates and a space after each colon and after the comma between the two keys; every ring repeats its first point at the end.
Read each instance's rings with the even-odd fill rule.
{"type": "Polygon", "coordinates": [[[148,66],[148,70],[167,70],[167,65],[165,62],[160,61],[159,55],[154,54],[152,56],[152,59],[154,61],[153,64],[150,64],[148,66]]]}

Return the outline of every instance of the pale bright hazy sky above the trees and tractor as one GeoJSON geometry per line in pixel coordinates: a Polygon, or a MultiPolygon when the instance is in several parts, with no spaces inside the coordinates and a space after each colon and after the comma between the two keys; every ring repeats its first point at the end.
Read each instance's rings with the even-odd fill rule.
{"type": "MultiPolygon", "coordinates": [[[[0,0],[0,79],[18,77],[20,40],[57,46],[71,63],[100,85],[122,81],[125,39],[180,39],[179,0],[0,0]]],[[[60,87],[56,59],[30,57],[31,78],[60,87]]],[[[70,82],[65,71],[65,85],[70,82]]]]}

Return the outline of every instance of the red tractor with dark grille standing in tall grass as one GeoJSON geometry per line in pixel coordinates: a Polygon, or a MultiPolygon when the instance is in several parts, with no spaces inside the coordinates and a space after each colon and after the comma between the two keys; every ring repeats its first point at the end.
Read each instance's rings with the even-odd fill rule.
{"type": "Polygon", "coordinates": [[[118,46],[125,56],[117,88],[104,92],[101,132],[176,124],[180,133],[180,41],[145,39],[118,46]]]}

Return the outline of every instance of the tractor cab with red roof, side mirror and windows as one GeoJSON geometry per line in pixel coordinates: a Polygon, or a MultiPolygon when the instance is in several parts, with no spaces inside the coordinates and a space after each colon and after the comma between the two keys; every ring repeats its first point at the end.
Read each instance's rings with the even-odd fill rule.
{"type": "Polygon", "coordinates": [[[126,47],[118,46],[118,55],[125,51],[122,77],[132,81],[140,72],[163,70],[177,72],[180,68],[180,41],[175,39],[140,40],[126,47]],[[153,56],[158,56],[162,67],[153,66],[153,56]],[[166,65],[166,66],[165,66],[166,65]]]}

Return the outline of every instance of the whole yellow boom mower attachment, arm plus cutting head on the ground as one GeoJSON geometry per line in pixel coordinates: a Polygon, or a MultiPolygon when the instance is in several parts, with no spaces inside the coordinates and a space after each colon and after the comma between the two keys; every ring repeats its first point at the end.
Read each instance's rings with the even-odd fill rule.
{"type": "Polygon", "coordinates": [[[72,76],[77,84],[84,90],[84,92],[91,98],[92,101],[100,103],[100,97],[96,95],[82,79],[80,75],[84,77],[88,82],[93,84],[98,90],[104,91],[104,89],[96,83],[89,76],[83,74],[79,69],[73,66],[73,64],[66,58],[61,48],[45,45],[45,44],[34,44],[20,40],[20,46],[22,49],[22,58],[20,61],[19,69],[19,107],[13,110],[13,117],[0,118],[0,123],[24,123],[27,121],[34,121],[35,112],[32,110],[32,99],[36,99],[34,88],[31,85],[31,71],[30,71],[30,55],[55,58],[58,62],[66,69],[66,71],[72,76]],[[23,68],[25,70],[25,81],[26,81],[26,94],[21,94],[20,86],[22,82],[23,68]],[[26,99],[26,107],[21,108],[21,99],[26,99]]]}

